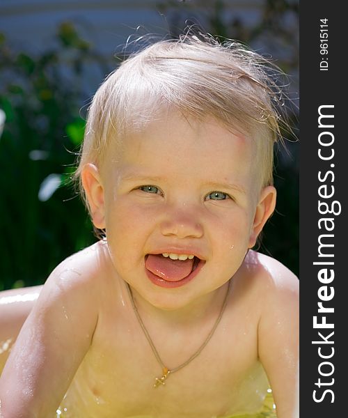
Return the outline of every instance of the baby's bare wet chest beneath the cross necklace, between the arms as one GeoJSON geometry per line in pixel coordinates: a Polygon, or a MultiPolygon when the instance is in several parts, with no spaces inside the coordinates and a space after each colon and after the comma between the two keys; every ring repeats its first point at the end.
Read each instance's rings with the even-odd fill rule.
{"type": "Polygon", "coordinates": [[[207,346],[181,368],[209,330],[153,334],[162,361],[173,370],[164,380],[138,324],[125,319],[110,332],[111,323],[101,323],[62,404],[70,411],[66,416],[212,418],[258,410],[267,379],[255,329],[252,321],[234,322],[226,314],[207,346]]]}

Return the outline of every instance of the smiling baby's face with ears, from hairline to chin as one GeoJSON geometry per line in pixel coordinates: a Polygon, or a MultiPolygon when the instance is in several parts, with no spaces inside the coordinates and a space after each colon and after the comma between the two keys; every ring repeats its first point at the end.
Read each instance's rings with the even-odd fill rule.
{"type": "Polygon", "coordinates": [[[274,208],[255,160],[250,139],[180,114],[111,148],[91,207],[120,277],[162,309],[226,283],[274,208]]]}

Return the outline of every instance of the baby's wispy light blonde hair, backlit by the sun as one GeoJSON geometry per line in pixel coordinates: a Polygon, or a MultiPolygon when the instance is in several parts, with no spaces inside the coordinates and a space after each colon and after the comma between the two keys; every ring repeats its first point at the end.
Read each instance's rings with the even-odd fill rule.
{"type": "Polygon", "coordinates": [[[199,119],[213,116],[250,136],[261,183],[271,185],[273,148],[280,137],[275,74],[262,56],[231,40],[186,35],[145,47],[111,72],[95,93],[76,176],[88,162],[102,164],[111,141],[127,130],[143,129],[167,107],[199,119]]]}

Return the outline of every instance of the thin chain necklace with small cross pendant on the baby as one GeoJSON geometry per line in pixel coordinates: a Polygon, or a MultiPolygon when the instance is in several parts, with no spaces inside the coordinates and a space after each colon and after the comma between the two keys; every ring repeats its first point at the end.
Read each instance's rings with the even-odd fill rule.
{"type": "Polygon", "coordinates": [[[159,353],[155,347],[155,344],[153,343],[150,334],[148,333],[148,330],[146,329],[143,320],[141,319],[141,316],[139,314],[139,311],[136,307],[136,304],[134,302],[134,297],[133,297],[133,293],[132,293],[132,289],[130,288],[129,284],[127,284],[127,290],[129,293],[129,298],[132,302],[132,307],[134,309],[134,313],[136,314],[136,318],[139,321],[139,324],[141,325],[141,328],[143,330],[143,333],[146,336],[146,339],[148,340],[148,343],[150,344],[150,347],[152,349],[152,352],[154,353],[157,362],[159,363],[159,365],[162,368],[162,376],[160,378],[155,378],[155,383],[154,383],[154,387],[159,387],[160,385],[166,385],[166,378],[168,378],[170,373],[174,373],[175,371],[178,371],[180,369],[182,369],[184,366],[187,366],[187,364],[191,363],[193,359],[195,359],[198,355],[200,355],[201,351],[203,350],[203,348],[205,348],[205,346],[207,345],[207,343],[209,342],[209,340],[212,338],[216,327],[219,325],[219,322],[223,316],[223,311],[225,311],[226,308],[226,304],[227,304],[227,297],[228,297],[228,293],[230,290],[230,281],[228,281],[228,288],[226,291],[226,295],[225,295],[225,299],[223,300],[223,304],[221,306],[221,311],[219,316],[216,318],[216,321],[214,323],[214,326],[212,327],[212,330],[209,332],[209,334],[207,335],[207,338],[205,339],[205,341],[203,341],[203,344],[200,346],[200,348],[198,348],[198,350],[196,351],[196,353],[193,353],[193,355],[191,355],[191,357],[189,359],[187,359],[186,362],[180,364],[180,366],[175,367],[174,369],[168,369],[167,366],[164,365],[164,362],[162,362],[161,357],[159,357],[159,353]]]}

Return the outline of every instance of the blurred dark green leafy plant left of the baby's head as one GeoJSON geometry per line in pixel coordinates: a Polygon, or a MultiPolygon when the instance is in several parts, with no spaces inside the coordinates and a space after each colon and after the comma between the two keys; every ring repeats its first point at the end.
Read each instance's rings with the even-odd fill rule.
{"type": "Polygon", "coordinates": [[[6,114],[0,290],[42,284],[63,258],[94,240],[69,180],[84,136],[84,63],[92,59],[106,70],[72,24],[62,24],[57,39],[55,49],[33,58],[13,52],[0,36],[0,109],[6,114]]]}

